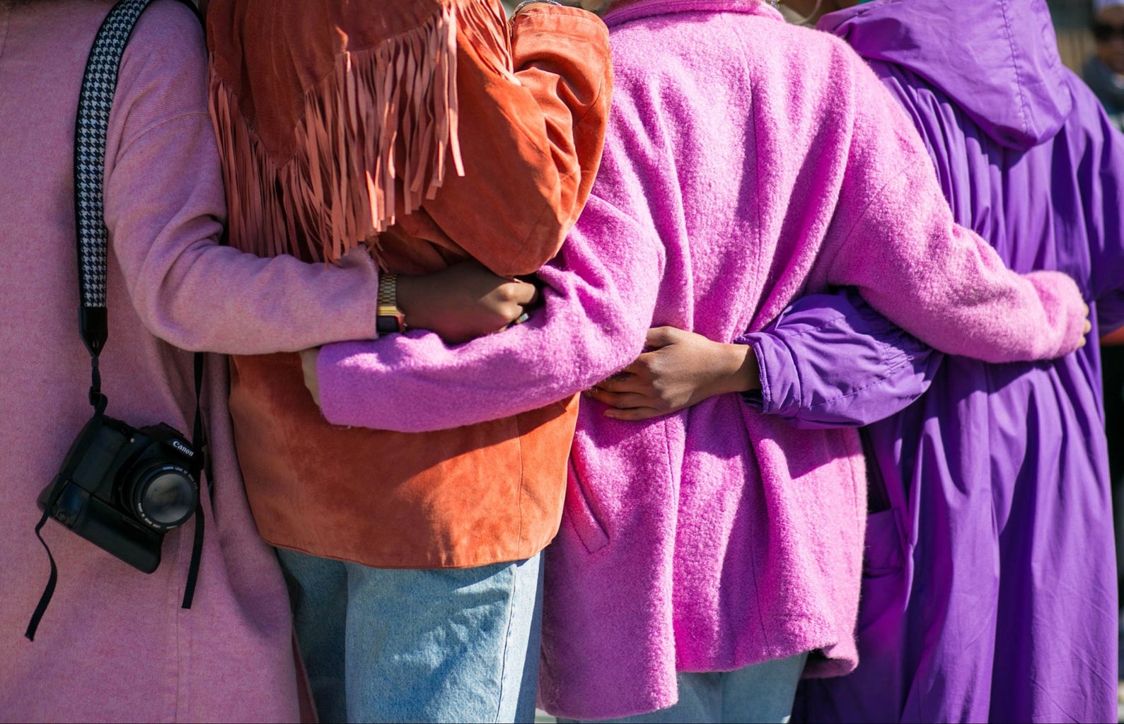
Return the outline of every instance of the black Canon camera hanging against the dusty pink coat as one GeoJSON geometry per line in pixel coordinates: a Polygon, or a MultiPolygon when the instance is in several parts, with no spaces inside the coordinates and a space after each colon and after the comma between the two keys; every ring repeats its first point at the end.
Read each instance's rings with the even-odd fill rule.
{"type": "Polygon", "coordinates": [[[151,573],[160,565],[164,534],[196,512],[199,456],[164,423],[135,429],[94,415],[39,494],[39,509],[151,573]]]}

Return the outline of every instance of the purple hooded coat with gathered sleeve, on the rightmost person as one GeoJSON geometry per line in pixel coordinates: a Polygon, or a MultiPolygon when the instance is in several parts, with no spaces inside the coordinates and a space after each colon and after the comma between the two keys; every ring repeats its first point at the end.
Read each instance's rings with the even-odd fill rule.
{"type": "MultiPolygon", "coordinates": [[[[1044,2],[876,0],[821,28],[905,106],[960,224],[1016,271],[1072,275],[1091,338],[1124,323],[1124,136],[1062,67],[1044,2]]],[[[797,717],[1116,721],[1097,345],[1054,362],[941,360],[853,293],[807,297],[744,340],[765,413],[801,427],[896,413],[863,431],[860,666],[806,681],[797,717]]]]}

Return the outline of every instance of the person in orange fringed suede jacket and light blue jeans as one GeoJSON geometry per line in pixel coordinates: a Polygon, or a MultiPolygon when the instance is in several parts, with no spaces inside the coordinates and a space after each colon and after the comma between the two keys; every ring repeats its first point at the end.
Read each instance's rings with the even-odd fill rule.
{"type": "MultiPolygon", "coordinates": [[[[329,262],[361,246],[384,272],[370,313],[388,343],[447,333],[492,289],[532,301],[509,280],[558,254],[600,159],[611,66],[596,16],[553,0],[510,21],[498,0],[212,0],[207,19],[233,246],[329,262]],[[493,281],[465,283],[480,272],[493,281]],[[427,323],[415,304],[444,314],[427,323]]],[[[519,304],[442,337],[523,324],[519,304]]],[[[318,356],[236,356],[230,395],[318,714],[532,718],[540,552],[578,390],[471,425],[333,425],[305,388],[318,356]]],[[[397,411],[444,409],[459,382],[397,411]]]]}

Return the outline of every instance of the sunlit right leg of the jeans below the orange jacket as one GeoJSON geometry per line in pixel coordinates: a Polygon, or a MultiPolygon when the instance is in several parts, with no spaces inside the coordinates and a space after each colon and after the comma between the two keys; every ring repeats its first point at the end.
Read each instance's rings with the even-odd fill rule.
{"type": "Polygon", "coordinates": [[[470,569],[346,567],[348,721],[534,720],[538,555],[470,569]]]}

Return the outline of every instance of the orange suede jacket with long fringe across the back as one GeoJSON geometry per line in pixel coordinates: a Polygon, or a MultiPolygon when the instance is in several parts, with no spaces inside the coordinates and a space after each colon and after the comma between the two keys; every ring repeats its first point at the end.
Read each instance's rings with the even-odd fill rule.
{"type": "MultiPolygon", "coordinates": [[[[334,262],[363,244],[386,271],[471,256],[528,274],[586,202],[611,90],[596,16],[534,4],[509,29],[497,0],[211,0],[207,26],[244,251],[334,262]]],[[[238,459],[270,543],[462,568],[554,536],[575,399],[407,434],[329,425],[296,354],[232,368],[238,459]]]]}

